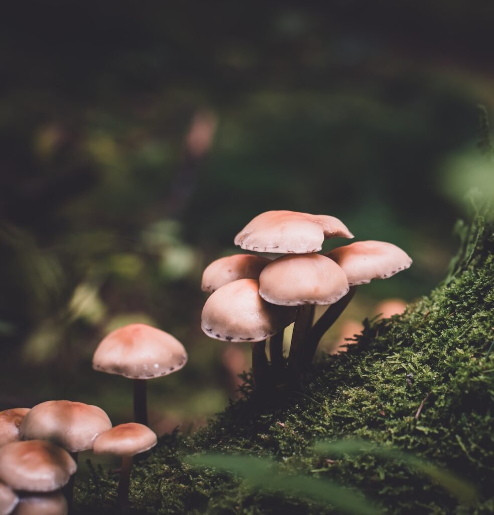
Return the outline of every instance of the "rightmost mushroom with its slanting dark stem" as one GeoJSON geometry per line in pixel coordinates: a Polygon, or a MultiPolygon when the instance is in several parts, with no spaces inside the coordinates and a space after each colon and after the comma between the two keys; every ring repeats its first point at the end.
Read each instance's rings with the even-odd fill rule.
{"type": "Polygon", "coordinates": [[[306,363],[312,361],[322,335],[352,300],[358,285],[370,283],[373,279],[387,279],[409,268],[412,264],[412,259],[404,250],[386,242],[355,242],[338,247],[325,255],[343,269],[348,278],[350,291],[340,301],[330,306],[314,324],[305,347],[306,363]]]}

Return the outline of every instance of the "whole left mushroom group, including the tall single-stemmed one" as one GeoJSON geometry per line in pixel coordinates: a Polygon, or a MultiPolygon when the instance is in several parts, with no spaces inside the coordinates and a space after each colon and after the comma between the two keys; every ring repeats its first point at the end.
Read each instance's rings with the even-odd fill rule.
{"type": "Polygon", "coordinates": [[[78,453],[122,458],[120,513],[129,510],[133,456],[156,445],[147,426],[146,383],[182,368],[187,353],[172,335],[144,324],[126,325],[96,349],[93,368],[134,380],[136,422],[116,425],[98,406],[47,401],[0,411],[0,515],[66,515],[72,508],[78,453]]]}

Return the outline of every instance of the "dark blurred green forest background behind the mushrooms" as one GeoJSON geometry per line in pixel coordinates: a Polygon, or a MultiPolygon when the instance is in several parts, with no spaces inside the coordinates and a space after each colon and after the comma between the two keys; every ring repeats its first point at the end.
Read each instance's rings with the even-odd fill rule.
{"type": "Polygon", "coordinates": [[[130,420],[131,383],[90,361],[108,331],[143,321],[189,352],[149,382],[152,426],[191,431],[250,366],[200,331],[200,277],[253,216],[331,214],[414,259],[360,288],[329,349],[381,301],[427,294],[465,193],[494,194],[477,148],[476,106],[494,102],[488,2],[3,11],[0,409],[67,398],[130,420]]]}

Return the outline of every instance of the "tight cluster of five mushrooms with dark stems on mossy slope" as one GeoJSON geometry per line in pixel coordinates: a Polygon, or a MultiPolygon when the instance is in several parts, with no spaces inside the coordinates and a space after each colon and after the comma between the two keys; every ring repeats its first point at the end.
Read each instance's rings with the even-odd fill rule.
{"type": "Polygon", "coordinates": [[[253,218],[234,243],[245,250],[284,255],[271,260],[236,254],[214,261],[204,271],[202,289],[211,296],[203,308],[202,329],[211,338],[251,343],[256,390],[297,383],[356,287],[391,277],[412,263],[395,245],[376,241],[318,253],[324,240],[332,237],[354,236],[334,216],[267,211],[253,218]],[[313,324],[316,305],[328,307],[313,324]],[[285,359],[283,331],[292,322],[285,359]]]}

